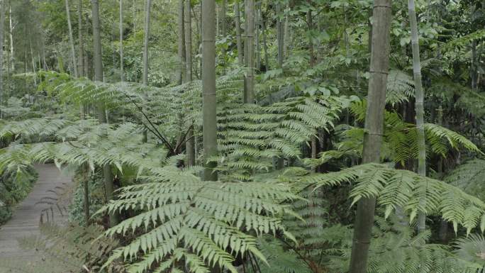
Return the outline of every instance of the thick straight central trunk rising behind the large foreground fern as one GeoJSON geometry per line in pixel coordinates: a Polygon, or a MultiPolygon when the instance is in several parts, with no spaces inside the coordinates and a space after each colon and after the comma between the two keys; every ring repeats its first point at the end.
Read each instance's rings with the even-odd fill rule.
{"type": "Polygon", "coordinates": [[[202,0],[202,101],[204,138],[204,180],[216,181],[216,164],[208,159],[217,151],[217,99],[216,99],[216,26],[214,26],[214,0],[202,0]]]}

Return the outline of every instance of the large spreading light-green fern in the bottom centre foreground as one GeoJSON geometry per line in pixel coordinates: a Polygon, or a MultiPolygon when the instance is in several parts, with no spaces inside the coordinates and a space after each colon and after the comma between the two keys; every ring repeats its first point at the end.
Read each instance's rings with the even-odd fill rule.
{"type": "Polygon", "coordinates": [[[100,211],[139,211],[106,231],[108,236],[138,236],[115,250],[105,266],[121,258],[132,262],[128,272],[183,270],[180,262],[191,272],[209,267],[237,272],[235,257],[251,254],[264,260],[251,233],[289,235],[280,220],[289,208],[279,202],[296,196],[284,184],[202,182],[178,169],[167,169],[165,178],[147,178],[155,182],[124,187],[100,211]]]}

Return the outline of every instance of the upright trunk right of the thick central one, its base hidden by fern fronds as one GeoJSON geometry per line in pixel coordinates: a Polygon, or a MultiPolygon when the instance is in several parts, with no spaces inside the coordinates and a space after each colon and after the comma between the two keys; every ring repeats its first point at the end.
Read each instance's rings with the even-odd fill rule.
{"type": "Polygon", "coordinates": [[[255,103],[255,1],[245,0],[246,16],[246,78],[244,102],[255,103]]]}

